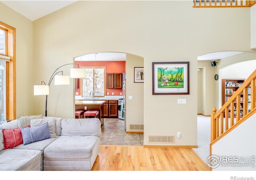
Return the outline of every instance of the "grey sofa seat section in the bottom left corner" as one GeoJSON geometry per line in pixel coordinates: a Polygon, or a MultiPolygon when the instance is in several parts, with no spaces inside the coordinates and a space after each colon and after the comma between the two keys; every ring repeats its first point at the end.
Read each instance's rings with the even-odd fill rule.
{"type": "Polygon", "coordinates": [[[20,149],[2,150],[0,164],[0,171],[41,170],[41,152],[20,149]]]}

